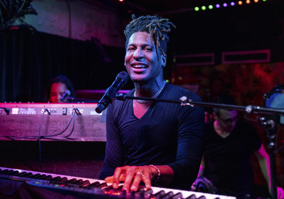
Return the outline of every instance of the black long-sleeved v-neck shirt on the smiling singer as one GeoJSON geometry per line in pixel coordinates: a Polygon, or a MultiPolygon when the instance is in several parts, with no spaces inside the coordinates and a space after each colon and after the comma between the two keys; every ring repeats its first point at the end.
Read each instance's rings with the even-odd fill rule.
{"type": "MultiPolygon", "coordinates": [[[[128,93],[133,96],[134,89],[128,93]]],[[[201,98],[181,87],[166,83],[157,98],[175,99],[186,95],[201,98]]],[[[125,165],[169,165],[174,171],[172,186],[192,184],[204,152],[204,108],[153,102],[138,119],[133,100],[114,100],[106,115],[106,156],[99,179],[125,165]]]]}

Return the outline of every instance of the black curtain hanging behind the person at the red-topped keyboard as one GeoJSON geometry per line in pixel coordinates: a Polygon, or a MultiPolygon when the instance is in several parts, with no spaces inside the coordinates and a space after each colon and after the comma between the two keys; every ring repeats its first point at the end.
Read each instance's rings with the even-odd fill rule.
{"type": "Polygon", "coordinates": [[[0,31],[0,102],[42,102],[49,80],[62,74],[76,89],[106,89],[125,70],[124,48],[107,47],[111,62],[92,41],[28,28],[0,31]]]}

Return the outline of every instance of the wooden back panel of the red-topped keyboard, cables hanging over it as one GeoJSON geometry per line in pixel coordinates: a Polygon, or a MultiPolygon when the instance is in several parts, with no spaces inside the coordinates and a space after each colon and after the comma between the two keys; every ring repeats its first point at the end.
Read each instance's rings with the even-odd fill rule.
{"type": "MultiPolygon", "coordinates": [[[[64,133],[41,140],[106,141],[104,117],[105,115],[75,115],[74,130],[69,139],[64,136],[72,131],[73,118],[64,133]]],[[[0,115],[0,140],[37,140],[38,138],[23,136],[38,136],[41,118],[42,115],[0,115]]],[[[70,120],[71,115],[44,115],[41,135],[54,135],[64,131],[70,120]]]]}

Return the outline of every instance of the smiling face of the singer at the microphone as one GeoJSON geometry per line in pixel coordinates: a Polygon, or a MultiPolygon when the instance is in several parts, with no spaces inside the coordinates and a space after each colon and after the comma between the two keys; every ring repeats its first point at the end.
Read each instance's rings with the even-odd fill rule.
{"type": "Polygon", "coordinates": [[[129,38],[124,65],[133,82],[146,82],[163,77],[166,58],[161,53],[157,55],[149,33],[135,32],[129,38]]]}

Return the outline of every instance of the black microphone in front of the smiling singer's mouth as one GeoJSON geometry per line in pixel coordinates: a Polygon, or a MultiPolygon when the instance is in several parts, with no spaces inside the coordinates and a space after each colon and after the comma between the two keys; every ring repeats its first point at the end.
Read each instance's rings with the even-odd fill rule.
{"type": "Polygon", "coordinates": [[[97,113],[101,113],[103,110],[106,109],[109,103],[112,102],[112,99],[115,97],[117,92],[128,82],[128,80],[129,75],[127,72],[122,71],[117,74],[112,85],[106,89],[106,91],[104,92],[104,96],[98,102],[98,105],[95,109],[97,113]]]}

